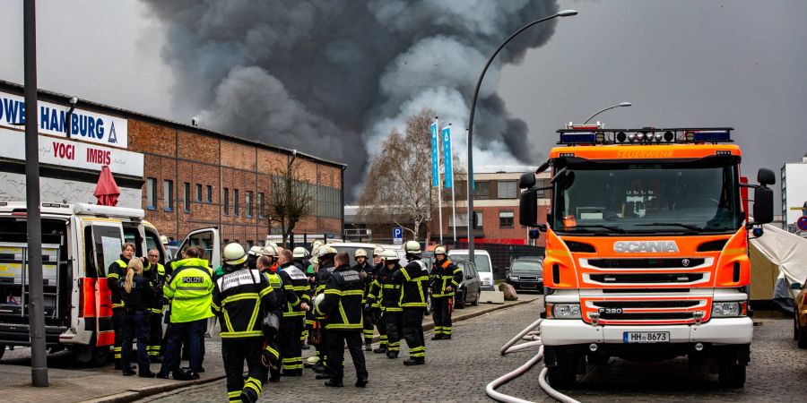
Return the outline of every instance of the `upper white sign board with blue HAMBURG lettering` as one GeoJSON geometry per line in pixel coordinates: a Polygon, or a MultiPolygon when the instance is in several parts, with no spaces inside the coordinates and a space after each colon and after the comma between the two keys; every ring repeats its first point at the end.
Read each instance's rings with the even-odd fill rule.
{"type": "MultiPolygon", "coordinates": [[[[69,126],[71,137],[75,140],[124,149],[129,146],[126,119],[100,115],[77,107],[70,116],[68,124],[65,119],[69,107],[42,101],[39,101],[38,105],[39,133],[67,137],[66,125],[69,126]]],[[[25,124],[25,99],[19,95],[0,92],[0,126],[20,129],[22,124],[25,124]]]]}

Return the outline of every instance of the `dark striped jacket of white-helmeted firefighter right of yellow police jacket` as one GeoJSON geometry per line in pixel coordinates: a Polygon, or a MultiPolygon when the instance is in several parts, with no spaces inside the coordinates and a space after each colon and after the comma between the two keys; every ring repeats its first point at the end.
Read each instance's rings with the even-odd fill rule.
{"type": "Polygon", "coordinates": [[[277,309],[274,294],[255,269],[239,266],[216,279],[211,307],[219,316],[221,339],[263,338],[264,316],[277,309]]]}

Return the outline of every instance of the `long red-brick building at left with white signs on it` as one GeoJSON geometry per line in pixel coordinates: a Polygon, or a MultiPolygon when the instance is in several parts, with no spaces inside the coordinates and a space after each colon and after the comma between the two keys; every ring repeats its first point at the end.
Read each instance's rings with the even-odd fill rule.
{"type": "MultiPolygon", "coordinates": [[[[22,91],[0,81],[0,135],[21,144],[24,126],[15,122],[22,115],[12,116],[11,107],[24,110],[22,91]]],[[[181,240],[194,229],[218,227],[223,240],[254,244],[269,233],[262,201],[272,197],[273,176],[296,159],[313,186],[315,217],[295,232],[342,236],[344,164],[84,99],[68,118],[70,98],[39,90],[42,201],[94,202],[91,192],[107,162],[121,188],[120,204],[145,210],[162,235],[181,240]],[[56,157],[48,157],[51,148],[56,157]],[[58,155],[62,149],[74,152],[58,155]],[[108,159],[91,158],[98,153],[108,159]]],[[[11,154],[0,152],[0,201],[24,200],[24,185],[22,193],[15,185],[24,184],[24,157],[11,154]]]]}

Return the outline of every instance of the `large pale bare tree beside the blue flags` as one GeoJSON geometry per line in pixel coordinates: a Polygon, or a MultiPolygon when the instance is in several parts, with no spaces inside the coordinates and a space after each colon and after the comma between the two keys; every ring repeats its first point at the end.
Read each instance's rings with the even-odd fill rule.
{"type": "Polygon", "coordinates": [[[431,218],[431,132],[434,111],[424,108],[381,144],[359,197],[359,215],[371,224],[392,223],[420,236],[431,218]]]}

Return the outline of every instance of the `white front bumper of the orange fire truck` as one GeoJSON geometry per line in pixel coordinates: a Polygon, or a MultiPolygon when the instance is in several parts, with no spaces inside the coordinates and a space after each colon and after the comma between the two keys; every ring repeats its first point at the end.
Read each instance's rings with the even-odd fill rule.
{"type": "Polygon", "coordinates": [[[594,326],[579,320],[544,319],[541,339],[545,346],[612,343],[623,344],[626,331],[669,331],[671,343],[750,344],[751,318],[718,318],[691,325],[608,325],[594,326]]]}

